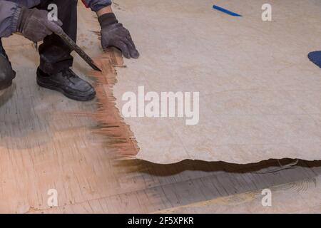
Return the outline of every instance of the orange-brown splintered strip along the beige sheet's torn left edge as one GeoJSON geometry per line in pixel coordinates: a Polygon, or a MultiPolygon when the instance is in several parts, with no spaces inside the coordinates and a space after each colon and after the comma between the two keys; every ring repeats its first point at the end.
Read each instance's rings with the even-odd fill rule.
{"type": "Polygon", "coordinates": [[[113,86],[117,82],[115,67],[123,66],[121,53],[109,50],[94,61],[102,71],[88,73],[97,81],[98,109],[92,115],[99,122],[97,133],[106,136],[106,146],[115,150],[117,156],[134,157],[139,150],[136,139],[116,108],[116,98],[113,96],[113,86]]]}

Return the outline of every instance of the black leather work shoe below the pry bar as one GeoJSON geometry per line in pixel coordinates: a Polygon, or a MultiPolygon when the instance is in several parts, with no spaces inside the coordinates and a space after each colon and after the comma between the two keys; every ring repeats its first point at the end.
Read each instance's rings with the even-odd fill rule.
{"type": "Polygon", "coordinates": [[[57,90],[73,100],[92,100],[96,95],[93,86],[76,76],[69,68],[51,75],[38,68],[37,83],[41,87],[57,90]]]}

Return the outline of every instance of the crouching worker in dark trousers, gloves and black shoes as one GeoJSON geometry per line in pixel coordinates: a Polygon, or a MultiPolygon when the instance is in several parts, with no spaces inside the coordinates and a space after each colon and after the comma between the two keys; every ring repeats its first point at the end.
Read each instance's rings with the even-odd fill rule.
{"type": "MultiPolygon", "coordinates": [[[[103,49],[116,47],[126,58],[138,58],[131,34],[113,14],[111,0],[83,0],[83,4],[98,16],[103,49]]],[[[0,95],[16,76],[1,37],[21,33],[30,41],[44,41],[39,46],[40,65],[36,73],[39,86],[57,90],[73,100],[86,101],[95,97],[91,84],[71,70],[71,49],[55,34],[61,29],[76,41],[77,0],[0,0],[0,95]],[[49,4],[58,6],[58,21],[48,20],[49,4]]]]}

